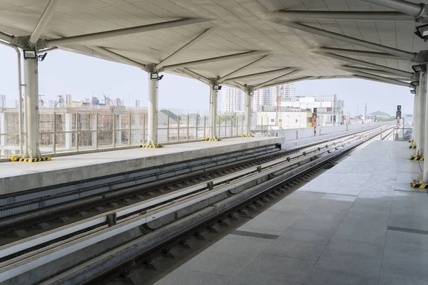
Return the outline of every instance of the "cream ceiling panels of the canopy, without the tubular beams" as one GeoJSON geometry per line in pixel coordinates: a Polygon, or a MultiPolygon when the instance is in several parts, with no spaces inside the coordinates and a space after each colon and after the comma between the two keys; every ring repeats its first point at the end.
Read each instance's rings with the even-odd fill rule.
{"type": "MultiPolygon", "coordinates": [[[[31,35],[48,3],[49,0],[0,0],[0,31],[14,36],[31,35]]],[[[275,84],[290,79],[365,76],[361,70],[338,68],[344,65],[373,68],[367,66],[366,63],[350,63],[326,56],[325,53],[313,53],[314,48],[317,47],[375,52],[376,50],[320,36],[316,33],[300,31],[286,25],[275,24],[272,22],[272,19],[275,19],[273,18],[274,14],[265,16],[280,10],[322,11],[321,15],[315,15],[317,17],[329,15],[328,12],[324,13],[324,11],[392,11],[358,0],[58,0],[54,15],[46,28],[41,31],[41,35],[42,38],[46,39],[63,38],[185,18],[199,18],[207,19],[207,21],[58,46],[79,53],[100,56],[108,60],[121,61],[121,59],[112,58],[106,53],[93,51],[91,48],[93,46],[103,47],[138,63],[157,64],[192,41],[193,38],[215,27],[213,28],[215,31],[211,30],[209,36],[193,46],[183,48],[183,51],[177,56],[172,56],[165,66],[247,51],[263,51],[265,53],[256,53],[255,55],[214,63],[188,63],[188,65],[182,65],[178,68],[165,68],[165,71],[185,76],[195,76],[195,73],[198,73],[200,78],[222,78],[240,67],[267,56],[243,69],[243,71],[228,76],[235,78],[235,80],[227,83],[235,86],[242,87],[247,84],[248,86],[261,87],[263,83],[266,86],[267,83],[275,84]],[[188,71],[186,72],[183,68],[187,68],[188,71]],[[285,70],[284,68],[290,69],[285,70]],[[240,78],[253,73],[277,69],[280,71],[240,78]],[[293,72],[289,76],[285,76],[291,71],[293,72]]],[[[306,17],[307,15],[302,16],[306,17]]],[[[416,24],[413,17],[407,16],[407,14],[397,16],[396,19],[400,21],[293,19],[292,15],[288,19],[280,17],[281,21],[300,22],[307,26],[345,34],[403,51],[419,52],[426,47],[426,43],[414,35],[416,24]]],[[[340,17],[337,16],[337,18],[340,17]]],[[[350,14],[350,16],[345,15],[345,17],[353,18],[354,16],[350,14]]],[[[361,18],[362,16],[355,17],[361,18]]],[[[377,72],[382,71],[380,69],[371,72],[383,78],[409,81],[409,78],[412,77],[409,58],[390,55],[381,57],[359,56],[343,51],[337,54],[409,73],[409,76],[404,76],[400,75],[401,73],[397,74],[387,70],[383,70],[383,73],[377,72]]],[[[372,79],[378,80],[379,78],[375,76],[372,79]]]]}

